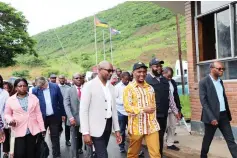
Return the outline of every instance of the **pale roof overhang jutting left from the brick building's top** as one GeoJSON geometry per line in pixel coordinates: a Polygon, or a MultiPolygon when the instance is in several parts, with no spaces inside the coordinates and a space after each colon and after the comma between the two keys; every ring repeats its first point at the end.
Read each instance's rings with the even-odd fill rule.
{"type": "Polygon", "coordinates": [[[176,14],[185,14],[185,1],[152,1],[160,7],[168,8],[176,14]]]}

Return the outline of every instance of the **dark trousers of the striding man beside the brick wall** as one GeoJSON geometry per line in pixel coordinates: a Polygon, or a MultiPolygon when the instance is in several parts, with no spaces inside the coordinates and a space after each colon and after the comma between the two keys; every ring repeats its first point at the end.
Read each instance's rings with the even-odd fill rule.
{"type": "Polygon", "coordinates": [[[201,158],[207,158],[207,153],[209,152],[209,147],[211,145],[211,142],[213,140],[217,128],[219,128],[221,133],[223,134],[232,157],[237,158],[237,145],[235,143],[235,139],[232,133],[227,113],[220,112],[220,120],[218,121],[217,126],[213,126],[211,124],[204,124],[204,125],[205,125],[205,134],[202,142],[201,158]]]}

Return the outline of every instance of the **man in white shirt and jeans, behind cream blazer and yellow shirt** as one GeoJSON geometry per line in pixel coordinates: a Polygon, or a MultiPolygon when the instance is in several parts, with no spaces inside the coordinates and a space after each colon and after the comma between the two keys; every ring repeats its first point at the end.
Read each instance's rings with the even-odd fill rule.
{"type": "Polygon", "coordinates": [[[120,127],[120,134],[122,136],[122,142],[119,144],[120,152],[125,152],[125,138],[126,138],[126,127],[128,125],[128,114],[124,109],[123,105],[123,90],[129,84],[131,75],[129,72],[123,72],[121,74],[121,81],[115,86],[115,100],[118,111],[118,120],[120,127]]]}

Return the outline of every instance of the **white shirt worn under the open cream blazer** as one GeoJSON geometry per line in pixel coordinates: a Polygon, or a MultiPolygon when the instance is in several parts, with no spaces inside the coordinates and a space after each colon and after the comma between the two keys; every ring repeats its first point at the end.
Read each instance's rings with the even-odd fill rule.
{"type": "MultiPolygon", "coordinates": [[[[99,79],[100,80],[100,79],[99,79]]],[[[108,104],[108,108],[107,108],[107,118],[111,118],[112,117],[112,97],[111,97],[111,93],[109,90],[109,84],[110,82],[107,81],[106,85],[104,86],[104,84],[102,82],[101,83],[101,87],[104,91],[104,95],[105,95],[105,99],[106,102],[108,104]]]]}

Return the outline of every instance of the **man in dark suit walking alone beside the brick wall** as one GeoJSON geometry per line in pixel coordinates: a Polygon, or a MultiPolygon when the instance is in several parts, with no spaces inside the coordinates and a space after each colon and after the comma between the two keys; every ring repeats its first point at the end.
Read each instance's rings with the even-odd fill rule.
{"type": "Polygon", "coordinates": [[[212,63],[210,65],[211,73],[199,83],[199,95],[203,107],[201,120],[205,126],[201,158],[207,158],[217,128],[222,132],[232,157],[237,158],[237,145],[230,126],[231,113],[223,81],[220,79],[224,70],[224,65],[221,62],[212,63]]]}

